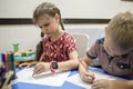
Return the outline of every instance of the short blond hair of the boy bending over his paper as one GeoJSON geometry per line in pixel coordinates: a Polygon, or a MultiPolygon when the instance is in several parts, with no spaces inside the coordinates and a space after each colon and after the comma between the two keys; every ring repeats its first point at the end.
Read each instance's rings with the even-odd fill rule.
{"type": "Polygon", "coordinates": [[[120,12],[106,27],[106,36],[123,51],[133,50],[133,12],[120,12]]]}

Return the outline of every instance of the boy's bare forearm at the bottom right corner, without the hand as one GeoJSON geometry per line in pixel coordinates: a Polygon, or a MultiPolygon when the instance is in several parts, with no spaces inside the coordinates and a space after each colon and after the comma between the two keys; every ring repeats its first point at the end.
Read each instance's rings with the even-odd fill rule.
{"type": "Polygon", "coordinates": [[[133,89],[133,80],[112,80],[110,89],[133,89]]]}

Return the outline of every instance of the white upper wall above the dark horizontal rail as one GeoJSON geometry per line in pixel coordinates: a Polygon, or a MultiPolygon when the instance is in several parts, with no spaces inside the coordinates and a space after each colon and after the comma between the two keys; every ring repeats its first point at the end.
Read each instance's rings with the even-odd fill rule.
{"type": "Polygon", "coordinates": [[[119,11],[133,9],[133,2],[122,0],[0,0],[0,18],[32,18],[43,1],[55,3],[62,18],[112,18],[119,11]]]}

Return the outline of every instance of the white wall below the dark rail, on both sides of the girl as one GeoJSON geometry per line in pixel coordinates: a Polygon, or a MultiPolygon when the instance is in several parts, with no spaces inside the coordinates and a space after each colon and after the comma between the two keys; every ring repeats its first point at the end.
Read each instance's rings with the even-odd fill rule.
{"type": "MultiPolygon", "coordinates": [[[[70,33],[88,33],[91,38],[90,46],[96,38],[104,36],[106,24],[65,24],[65,30],[70,33]]],[[[40,41],[40,29],[33,24],[28,26],[1,26],[0,27],[0,52],[12,51],[13,43],[20,43],[19,49],[34,49],[40,41]]]]}

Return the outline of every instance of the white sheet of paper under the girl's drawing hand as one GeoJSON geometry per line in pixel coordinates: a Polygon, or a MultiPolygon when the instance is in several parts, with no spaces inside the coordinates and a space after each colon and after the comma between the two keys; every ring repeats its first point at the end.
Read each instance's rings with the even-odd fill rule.
{"type": "Polygon", "coordinates": [[[70,71],[58,71],[55,73],[48,71],[34,77],[32,77],[32,73],[33,68],[25,68],[17,73],[17,81],[60,87],[66,80],[70,71]]]}

